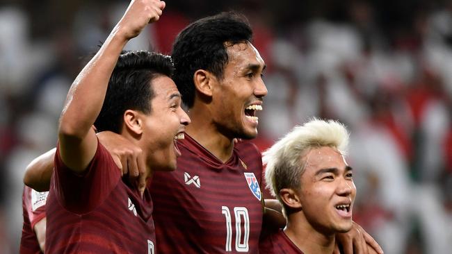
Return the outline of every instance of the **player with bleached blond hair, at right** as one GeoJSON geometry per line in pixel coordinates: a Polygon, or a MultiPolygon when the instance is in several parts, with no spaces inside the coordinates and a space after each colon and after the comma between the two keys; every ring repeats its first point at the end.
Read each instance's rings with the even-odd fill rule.
{"type": "Polygon", "coordinates": [[[267,187],[283,206],[286,227],[262,240],[260,253],[333,253],[335,235],[353,226],[347,148],[342,124],[314,119],[264,152],[267,187]]]}

